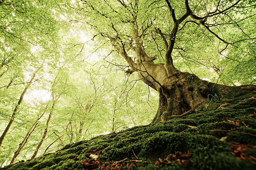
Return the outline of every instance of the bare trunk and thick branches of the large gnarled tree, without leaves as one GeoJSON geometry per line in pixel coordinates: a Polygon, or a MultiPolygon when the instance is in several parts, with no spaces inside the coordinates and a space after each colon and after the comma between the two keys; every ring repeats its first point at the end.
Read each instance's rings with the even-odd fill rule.
{"type": "MultiPolygon", "coordinates": [[[[238,4],[239,0],[221,11],[217,10],[219,6],[218,4],[216,10],[207,12],[205,17],[198,17],[193,14],[193,11],[189,7],[189,1],[184,0],[186,12],[183,15],[179,15],[180,18],[176,18],[174,8],[172,8],[172,3],[170,3],[169,0],[165,1],[169,8],[169,12],[171,14],[170,16],[173,20],[172,30],[170,33],[168,32],[167,34],[163,34],[159,28],[154,28],[154,30],[160,34],[160,37],[164,41],[164,47],[166,50],[164,63],[154,64],[156,57],[149,57],[146,54],[145,47],[143,46],[143,36],[145,35],[144,29],[143,27],[138,28],[136,17],[138,13],[136,12],[131,13],[132,17],[131,20],[129,20],[132,35],[132,39],[129,43],[125,42],[125,40],[122,39],[122,36],[120,36],[121,34],[125,33],[120,32],[120,30],[118,31],[113,24],[112,31],[116,32],[114,37],[101,33],[103,37],[110,39],[113,47],[120,52],[120,55],[131,67],[131,69],[127,70],[126,73],[130,75],[132,72],[138,72],[138,76],[143,82],[159,92],[159,108],[153,122],[160,122],[175,117],[181,117],[184,114],[192,112],[199,105],[206,103],[212,97],[225,99],[256,90],[255,85],[231,87],[201,80],[194,74],[177,70],[172,59],[172,52],[177,33],[179,31],[179,25],[186,20],[186,18],[191,18],[192,22],[196,23],[197,25],[203,25],[206,30],[210,32],[210,34],[214,35],[225,44],[232,45],[232,43],[228,43],[219,37],[218,34],[210,30],[209,26],[206,25],[205,22],[207,21],[207,18],[230,10],[238,4]],[[128,50],[125,48],[128,50],[132,49],[137,55],[137,60],[133,60],[127,54],[126,51],[128,50]]],[[[95,10],[95,8],[93,8],[93,10],[95,10]]],[[[150,25],[148,28],[149,27],[150,25]]],[[[184,28],[184,26],[182,28],[184,28]]]]}

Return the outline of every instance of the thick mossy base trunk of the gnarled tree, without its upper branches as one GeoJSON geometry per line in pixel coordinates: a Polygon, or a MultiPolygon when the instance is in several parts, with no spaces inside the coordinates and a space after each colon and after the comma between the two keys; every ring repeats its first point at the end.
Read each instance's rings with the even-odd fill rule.
{"type": "Polygon", "coordinates": [[[152,122],[181,117],[214,96],[231,98],[256,90],[255,85],[231,87],[201,80],[196,75],[175,70],[168,76],[164,64],[142,62],[139,77],[159,92],[159,108],[152,122]]]}

